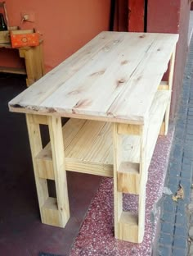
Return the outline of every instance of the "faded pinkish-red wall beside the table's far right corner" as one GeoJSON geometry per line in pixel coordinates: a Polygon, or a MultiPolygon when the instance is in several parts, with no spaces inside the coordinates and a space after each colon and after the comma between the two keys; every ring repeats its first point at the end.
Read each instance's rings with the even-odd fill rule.
{"type": "Polygon", "coordinates": [[[177,33],[176,67],[173,81],[171,116],[174,118],[177,99],[181,94],[184,67],[186,64],[187,32],[190,16],[189,0],[149,0],[147,10],[147,31],[177,33]]]}

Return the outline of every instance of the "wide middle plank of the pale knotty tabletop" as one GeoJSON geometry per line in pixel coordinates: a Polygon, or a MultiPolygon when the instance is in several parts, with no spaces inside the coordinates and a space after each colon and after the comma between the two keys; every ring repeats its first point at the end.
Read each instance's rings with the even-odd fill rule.
{"type": "Polygon", "coordinates": [[[155,40],[154,34],[146,37],[141,37],[141,34],[126,35],[120,43],[93,57],[89,68],[83,66],[67,80],[40,105],[41,111],[44,106],[54,106],[56,112],[96,115],[97,111],[97,116],[106,116],[105,111],[127,86],[132,72],[155,40]],[[137,48],[137,52],[133,48],[137,48]]]}

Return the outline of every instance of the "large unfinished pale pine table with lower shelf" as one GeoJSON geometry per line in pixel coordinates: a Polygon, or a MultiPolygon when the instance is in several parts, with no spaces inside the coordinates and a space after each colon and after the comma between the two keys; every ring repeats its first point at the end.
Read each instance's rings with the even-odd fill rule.
{"type": "Polygon", "coordinates": [[[177,39],[102,32],[11,100],[11,112],[26,114],[43,223],[63,227],[70,218],[65,170],[114,177],[114,235],[143,240],[148,167],[159,131],[168,130],[177,39]],[[61,117],[70,117],[63,128],[61,117]],[[44,149],[40,125],[49,129],[44,149]],[[123,211],[123,193],[139,195],[137,215],[123,211]]]}

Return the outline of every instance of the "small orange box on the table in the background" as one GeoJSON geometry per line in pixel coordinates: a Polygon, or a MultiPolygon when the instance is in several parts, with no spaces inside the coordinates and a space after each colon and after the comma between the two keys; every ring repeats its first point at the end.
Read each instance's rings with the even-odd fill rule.
{"type": "Polygon", "coordinates": [[[34,30],[12,30],[10,35],[12,48],[37,46],[39,44],[39,34],[35,33],[34,30]]]}

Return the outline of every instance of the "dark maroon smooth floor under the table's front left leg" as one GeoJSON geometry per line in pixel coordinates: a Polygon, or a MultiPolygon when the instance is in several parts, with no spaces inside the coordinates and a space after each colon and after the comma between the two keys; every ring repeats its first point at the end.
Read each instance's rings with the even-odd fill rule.
{"type": "Polygon", "coordinates": [[[25,88],[25,76],[0,74],[0,255],[68,255],[101,177],[68,173],[70,221],[64,229],[41,223],[25,115],[7,107],[25,88]]]}

